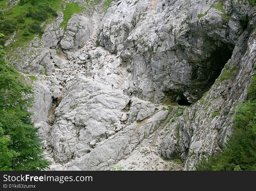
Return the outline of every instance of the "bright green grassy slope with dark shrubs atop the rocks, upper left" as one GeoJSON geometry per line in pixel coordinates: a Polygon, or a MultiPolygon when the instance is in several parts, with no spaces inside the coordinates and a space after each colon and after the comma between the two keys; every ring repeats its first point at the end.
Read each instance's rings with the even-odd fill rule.
{"type": "Polygon", "coordinates": [[[19,3],[10,8],[6,5],[7,1],[0,1],[0,9],[7,8],[7,10],[2,13],[0,12],[0,32],[6,35],[5,38],[0,39],[0,44],[3,45],[4,42],[10,38],[11,35],[16,31],[15,42],[11,42],[5,50],[10,51],[11,48],[16,49],[17,47],[23,47],[30,40],[32,40],[35,35],[42,35],[43,27],[41,27],[42,22],[48,22],[51,19],[56,18],[57,10],[63,11],[63,23],[61,27],[66,29],[66,25],[72,14],[79,13],[81,8],[77,3],[65,3],[62,0],[25,0],[19,1],[19,3]],[[63,4],[65,3],[65,10],[63,4]]]}

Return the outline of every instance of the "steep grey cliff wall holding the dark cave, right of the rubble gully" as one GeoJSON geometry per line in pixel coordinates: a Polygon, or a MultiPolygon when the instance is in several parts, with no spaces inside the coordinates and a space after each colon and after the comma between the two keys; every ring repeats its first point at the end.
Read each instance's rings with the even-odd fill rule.
{"type": "Polygon", "coordinates": [[[127,89],[152,101],[194,103],[219,76],[248,21],[248,5],[223,4],[118,1],[103,19],[99,42],[127,62],[127,89]]]}

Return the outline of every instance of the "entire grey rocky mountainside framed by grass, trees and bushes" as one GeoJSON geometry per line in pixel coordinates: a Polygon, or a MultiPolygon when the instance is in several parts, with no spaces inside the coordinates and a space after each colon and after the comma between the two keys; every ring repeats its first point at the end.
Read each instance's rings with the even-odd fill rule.
{"type": "Polygon", "coordinates": [[[109,170],[139,156],[168,115],[162,103],[177,102],[192,105],[162,130],[148,160],[178,157],[182,170],[194,170],[225,146],[236,103],[246,98],[255,72],[255,7],[120,0],[105,12],[104,5],[72,15],[65,31],[58,11],[42,38],[7,57],[38,78],[31,111],[48,155],[58,169],[109,170]]]}

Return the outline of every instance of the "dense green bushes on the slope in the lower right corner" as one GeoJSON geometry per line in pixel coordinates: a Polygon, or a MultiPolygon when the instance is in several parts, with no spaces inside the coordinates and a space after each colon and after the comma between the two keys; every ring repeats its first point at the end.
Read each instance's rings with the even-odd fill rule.
{"type": "Polygon", "coordinates": [[[256,170],[256,77],[252,78],[247,100],[238,104],[233,135],[216,156],[206,156],[197,170],[256,170]]]}

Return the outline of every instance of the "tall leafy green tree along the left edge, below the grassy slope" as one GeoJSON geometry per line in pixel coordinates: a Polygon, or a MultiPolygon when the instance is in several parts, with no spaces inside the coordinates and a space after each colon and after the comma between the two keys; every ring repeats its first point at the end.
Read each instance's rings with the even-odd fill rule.
{"type": "Polygon", "coordinates": [[[38,128],[27,111],[33,101],[32,87],[6,63],[0,49],[0,170],[43,170],[50,162],[42,155],[38,128]]]}

